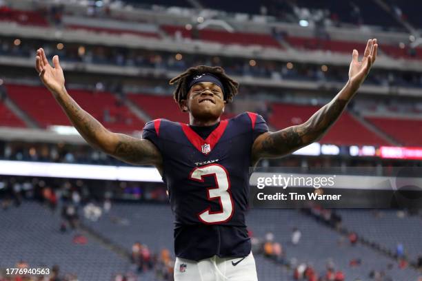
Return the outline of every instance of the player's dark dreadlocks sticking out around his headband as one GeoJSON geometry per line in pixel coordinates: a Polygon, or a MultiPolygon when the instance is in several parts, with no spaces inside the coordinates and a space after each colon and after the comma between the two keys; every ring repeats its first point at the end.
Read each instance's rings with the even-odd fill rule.
{"type": "Polygon", "coordinates": [[[183,72],[177,77],[174,77],[170,80],[170,85],[177,83],[176,90],[173,92],[174,100],[179,103],[179,106],[182,106],[182,100],[188,98],[188,83],[190,77],[196,76],[202,73],[210,73],[214,76],[217,76],[221,83],[223,83],[225,101],[232,101],[233,97],[237,94],[239,89],[239,83],[231,79],[227,74],[225,74],[223,67],[219,66],[207,66],[207,65],[198,65],[197,67],[190,67],[188,70],[183,72]]]}

